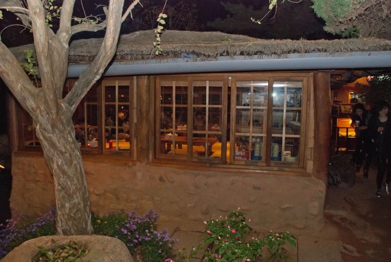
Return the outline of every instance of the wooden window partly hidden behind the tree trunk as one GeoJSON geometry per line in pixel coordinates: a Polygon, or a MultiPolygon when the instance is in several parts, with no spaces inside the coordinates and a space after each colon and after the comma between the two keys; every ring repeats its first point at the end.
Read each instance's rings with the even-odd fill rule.
{"type": "MultiPolygon", "coordinates": [[[[65,93],[74,83],[67,81],[65,93]]],[[[133,78],[122,78],[104,79],[91,87],[72,118],[82,153],[134,156],[133,86],[133,78]]],[[[24,110],[20,129],[21,145],[40,146],[32,118],[24,110]]]]}

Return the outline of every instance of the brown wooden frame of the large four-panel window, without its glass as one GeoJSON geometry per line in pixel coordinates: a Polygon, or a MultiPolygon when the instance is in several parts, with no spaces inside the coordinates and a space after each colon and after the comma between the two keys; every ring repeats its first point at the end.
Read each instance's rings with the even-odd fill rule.
{"type": "MultiPolygon", "coordinates": [[[[155,118],[155,160],[159,162],[159,159],[161,160],[174,160],[174,161],[185,161],[189,164],[194,163],[213,163],[215,166],[221,166],[221,167],[229,167],[229,168],[249,168],[249,169],[259,169],[259,167],[264,167],[266,169],[272,169],[272,170],[297,170],[296,168],[300,168],[301,170],[303,168],[306,168],[306,159],[305,159],[305,146],[307,145],[307,137],[306,132],[308,131],[307,126],[307,107],[309,106],[309,99],[308,99],[308,92],[310,85],[312,84],[312,74],[311,72],[308,73],[300,73],[300,72],[282,72],[282,73],[217,73],[217,74],[199,74],[199,75],[177,75],[177,76],[157,76],[155,81],[155,115],[157,116],[155,118]],[[228,77],[231,81],[230,87],[228,87],[228,77]],[[193,157],[191,154],[192,150],[192,143],[191,140],[188,141],[188,154],[187,155],[168,155],[160,153],[160,82],[161,81],[188,81],[188,137],[191,137],[192,135],[192,129],[193,129],[193,121],[192,121],[192,110],[193,110],[193,97],[192,97],[192,81],[216,81],[218,80],[224,80],[226,82],[223,82],[223,86],[226,85],[226,89],[223,87],[223,96],[225,97],[225,100],[223,98],[223,101],[226,101],[223,105],[224,113],[223,115],[223,134],[222,137],[224,138],[224,143],[222,141],[222,152],[226,152],[226,146],[227,146],[227,139],[226,139],[226,132],[227,132],[227,105],[228,105],[228,88],[230,88],[230,94],[231,94],[231,108],[230,108],[230,134],[229,134],[229,141],[232,144],[232,141],[235,141],[235,112],[236,112],[236,82],[237,81],[268,81],[268,100],[267,100],[267,106],[264,108],[264,112],[267,115],[267,128],[266,128],[266,161],[252,161],[252,160],[234,160],[234,146],[230,147],[230,159],[229,162],[227,162],[227,159],[224,159],[224,161],[216,161],[216,160],[210,160],[208,158],[199,158],[199,157],[193,157]],[[298,162],[286,162],[286,161],[271,161],[271,146],[272,146],[272,115],[273,115],[273,83],[275,81],[281,82],[281,81],[301,81],[302,82],[302,102],[301,102],[301,128],[300,128],[300,135],[299,135],[299,161],[298,162]],[[226,84],[225,84],[226,83],[226,84]],[[271,90],[271,92],[270,92],[271,90]],[[271,113],[268,113],[271,112],[271,113]],[[269,115],[270,114],[270,115],[269,115]],[[294,169],[292,169],[294,168],[294,169]]],[[[286,98],[285,98],[286,99],[286,98]]],[[[285,105],[286,107],[286,105],[285,105]]],[[[286,108],[284,110],[284,115],[286,114],[286,108]]],[[[290,109],[289,109],[290,110],[290,109]]],[[[284,116],[285,118],[285,116],[284,116]]],[[[286,136],[285,137],[289,137],[286,136]]],[[[226,153],[222,153],[222,158],[225,158],[227,156],[226,153]],[[224,155],[224,157],[223,157],[224,155]]]]}

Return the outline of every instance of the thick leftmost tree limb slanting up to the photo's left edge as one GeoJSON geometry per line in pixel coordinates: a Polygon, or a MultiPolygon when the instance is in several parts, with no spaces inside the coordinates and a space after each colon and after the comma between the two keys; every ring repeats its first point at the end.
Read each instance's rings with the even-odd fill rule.
{"type": "Polygon", "coordinates": [[[0,41],[0,77],[31,116],[36,115],[42,90],[34,87],[11,51],[0,41]]]}

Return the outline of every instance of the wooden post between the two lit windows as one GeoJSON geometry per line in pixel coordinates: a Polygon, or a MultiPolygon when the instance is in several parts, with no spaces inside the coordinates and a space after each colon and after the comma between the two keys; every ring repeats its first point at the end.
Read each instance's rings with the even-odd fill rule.
{"type": "Polygon", "coordinates": [[[137,123],[136,123],[136,159],[145,163],[149,159],[150,119],[150,79],[148,76],[137,77],[137,123]]]}

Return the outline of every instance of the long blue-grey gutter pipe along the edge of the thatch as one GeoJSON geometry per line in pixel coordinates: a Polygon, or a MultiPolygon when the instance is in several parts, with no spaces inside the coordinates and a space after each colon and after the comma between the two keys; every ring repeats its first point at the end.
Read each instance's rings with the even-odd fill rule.
{"type": "MultiPolygon", "coordinates": [[[[69,65],[68,77],[76,78],[88,67],[69,65]]],[[[308,53],[273,56],[219,57],[216,61],[191,59],[156,59],[114,62],[104,76],[136,76],[176,73],[271,71],[271,70],[320,70],[347,68],[391,68],[391,51],[351,53],[308,53]]]]}

